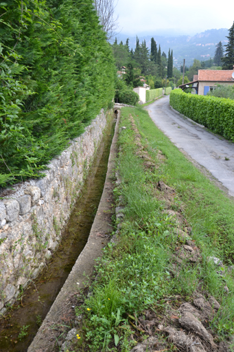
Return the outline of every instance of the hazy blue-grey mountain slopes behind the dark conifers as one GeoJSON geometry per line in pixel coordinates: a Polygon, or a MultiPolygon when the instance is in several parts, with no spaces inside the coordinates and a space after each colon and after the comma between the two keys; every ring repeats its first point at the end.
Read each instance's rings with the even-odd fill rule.
{"type": "MultiPolygon", "coordinates": [[[[221,41],[222,45],[226,45],[228,40],[226,36],[229,34],[229,30],[226,28],[220,28],[219,30],[206,30],[202,33],[198,33],[194,36],[179,35],[179,36],[168,36],[165,35],[139,35],[140,43],[145,40],[146,45],[150,49],[151,38],[154,37],[158,47],[161,46],[161,52],[168,54],[169,49],[173,50],[174,66],[180,67],[183,65],[183,59],[185,58],[185,65],[192,65],[194,58],[200,61],[209,60],[213,58],[215,54],[216,45],[221,41]]],[[[136,46],[136,37],[128,36],[127,34],[118,34],[117,41],[123,41],[126,43],[126,39],[129,38],[129,46],[134,50],[136,46]]],[[[225,47],[224,47],[225,50],[225,47]]]]}

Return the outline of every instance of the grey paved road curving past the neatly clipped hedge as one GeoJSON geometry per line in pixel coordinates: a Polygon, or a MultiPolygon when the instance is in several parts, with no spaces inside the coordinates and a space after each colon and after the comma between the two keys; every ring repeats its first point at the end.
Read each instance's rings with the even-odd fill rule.
{"type": "Polygon", "coordinates": [[[169,107],[169,96],[146,107],[150,117],[178,147],[207,168],[234,196],[234,144],[183,118],[169,107]],[[229,160],[225,160],[229,158],[229,160]]]}

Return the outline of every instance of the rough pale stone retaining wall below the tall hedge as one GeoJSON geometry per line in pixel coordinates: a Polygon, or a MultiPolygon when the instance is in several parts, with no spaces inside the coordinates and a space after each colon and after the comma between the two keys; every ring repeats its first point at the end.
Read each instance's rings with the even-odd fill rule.
{"type": "Polygon", "coordinates": [[[14,186],[12,195],[0,200],[0,314],[36,278],[60,242],[105,126],[102,110],[51,161],[45,177],[14,186]]]}

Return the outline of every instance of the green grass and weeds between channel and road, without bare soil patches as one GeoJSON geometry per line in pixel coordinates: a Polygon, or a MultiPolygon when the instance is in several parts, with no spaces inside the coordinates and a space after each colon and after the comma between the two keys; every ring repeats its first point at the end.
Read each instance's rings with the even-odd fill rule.
{"type": "MultiPolygon", "coordinates": [[[[75,351],[130,351],[136,340],[148,337],[132,328],[145,309],[163,316],[169,297],[191,302],[196,289],[222,303],[212,328],[225,339],[234,332],[233,277],[217,274],[207,257],[216,255],[226,263],[233,260],[233,202],[156,128],[146,111],[123,108],[121,115],[121,126],[127,128],[119,133],[117,169],[121,184],[114,193],[117,204],[119,196],[124,199],[125,217],[117,243],[108,244],[96,267],[91,296],[76,308],[84,322],[75,351]],[[143,160],[134,153],[137,147],[129,113],[138,125],[141,144],[158,164],[154,170],[145,169],[143,160]],[[159,149],[165,155],[163,162],[157,157],[159,149]],[[172,274],[172,256],[179,245],[176,222],[163,212],[165,201],[157,197],[156,190],[159,180],[176,190],[171,208],[183,209],[202,253],[198,265],[183,262],[178,275],[172,274]],[[229,287],[229,294],[224,292],[224,285],[229,287]]],[[[174,351],[173,347],[167,351],[174,351]]]]}

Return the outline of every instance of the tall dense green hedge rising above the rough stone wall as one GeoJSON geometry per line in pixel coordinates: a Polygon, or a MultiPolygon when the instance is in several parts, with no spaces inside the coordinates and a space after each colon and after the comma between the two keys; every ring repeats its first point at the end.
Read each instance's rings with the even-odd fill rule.
{"type": "Polygon", "coordinates": [[[92,0],[0,3],[0,186],[38,177],[111,104],[115,65],[92,0]]]}

